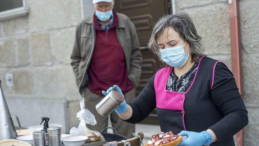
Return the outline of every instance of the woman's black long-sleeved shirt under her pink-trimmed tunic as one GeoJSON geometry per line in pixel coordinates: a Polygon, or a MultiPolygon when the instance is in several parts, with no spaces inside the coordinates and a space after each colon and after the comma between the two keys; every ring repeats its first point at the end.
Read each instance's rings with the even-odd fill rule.
{"type": "MultiPolygon", "coordinates": [[[[193,69],[195,67],[192,67],[191,70],[193,69]]],[[[129,119],[125,120],[126,122],[138,123],[144,120],[156,108],[154,77],[155,75],[149,79],[137,98],[133,102],[128,103],[132,107],[133,114],[129,119]]],[[[172,76],[170,77],[172,78],[172,76]]],[[[178,82],[181,82],[182,79],[185,78],[181,78],[178,82]]],[[[176,90],[176,87],[171,87],[172,90],[176,90]]],[[[223,63],[218,63],[215,67],[214,84],[210,94],[213,103],[224,115],[219,122],[209,127],[216,134],[218,142],[220,142],[233,137],[234,134],[248,124],[247,110],[238,92],[235,79],[231,71],[223,63]]]]}

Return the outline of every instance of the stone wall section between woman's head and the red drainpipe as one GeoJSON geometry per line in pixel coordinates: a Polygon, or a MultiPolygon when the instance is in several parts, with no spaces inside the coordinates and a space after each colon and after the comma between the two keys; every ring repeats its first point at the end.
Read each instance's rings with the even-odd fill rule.
{"type": "Polygon", "coordinates": [[[188,12],[202,37],[205,54],[231,68],[230,31],[227,0],[178,0],[178,11],[188,12]]]}

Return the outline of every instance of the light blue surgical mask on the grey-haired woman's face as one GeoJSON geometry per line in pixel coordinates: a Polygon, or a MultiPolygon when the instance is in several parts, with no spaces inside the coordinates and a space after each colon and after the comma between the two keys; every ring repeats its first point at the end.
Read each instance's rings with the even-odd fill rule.
{"type": "Polygon", "coordinates": [[[183,46],[185,45],[185,43],[183,45],[176,46],[176,47],[160,49],[162,60],[166,64],[172,67],[179,68],[182,65],[184,65],[189,57],[189,52],[190,52],[190,49],[189,49],[189,52],[187,54],[184,53],[183,46]]]}

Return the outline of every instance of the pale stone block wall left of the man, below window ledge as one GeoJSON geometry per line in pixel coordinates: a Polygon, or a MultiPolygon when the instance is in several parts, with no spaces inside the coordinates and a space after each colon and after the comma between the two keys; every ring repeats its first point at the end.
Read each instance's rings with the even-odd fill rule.
{"type": "Polygon", "coordinates": [[[23,128],[39,125],[46,116],[50,123],[63,124],[62,133],[69,133],[79,123],[81,96],[70,55],[75,27],[82,19],[81,1],[25,2],[28,16],[0,21],[0,80],[9,110],[23,128]],[[11,88],[6,86],[6,73],[13,74],[11,88]]]}

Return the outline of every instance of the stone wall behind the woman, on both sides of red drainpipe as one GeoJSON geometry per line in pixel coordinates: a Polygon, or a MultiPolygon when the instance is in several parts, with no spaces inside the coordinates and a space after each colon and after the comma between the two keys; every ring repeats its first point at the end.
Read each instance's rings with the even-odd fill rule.
{"type": "MultiPolygon", "coordinates": [[[[240,33],[243,70],[243,97],[249,124],[244,128],[244,145],[259,143],[259,25],[257,0],[240,0],[240,33]]],[[[187,11],[202,36],[205,54],[223,61],[232,68],[228,0],[176,0],[177,10],[187,11]]]]}

